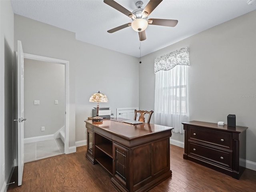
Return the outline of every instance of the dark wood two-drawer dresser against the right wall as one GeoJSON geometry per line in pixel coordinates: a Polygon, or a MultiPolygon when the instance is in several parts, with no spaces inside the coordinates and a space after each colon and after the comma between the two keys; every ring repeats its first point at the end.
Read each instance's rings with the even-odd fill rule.
{"type": "Polygon", "coordinates": [[[246,129],[190,121],[184,125],[183,158],[239,179],[246,163],[246,129]]]}

